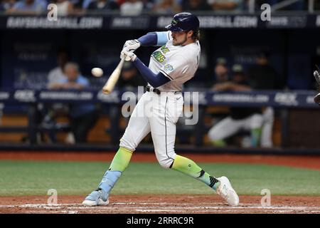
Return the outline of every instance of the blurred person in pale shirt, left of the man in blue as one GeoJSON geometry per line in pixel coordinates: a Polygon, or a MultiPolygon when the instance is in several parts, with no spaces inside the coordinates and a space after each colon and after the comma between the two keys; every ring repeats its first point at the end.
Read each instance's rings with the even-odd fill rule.
{"type": "Polygon", "coordinates": [[[52,88],[55,83],[59,83],[60,81],[65,79],[63,68],[65,67],[65,63],[67,62],[68,62],[68,53],[66,53],[65,51],[60,51],[57,57],[58,66],[53,68],[48,73],[47,88],[52,88]]]}

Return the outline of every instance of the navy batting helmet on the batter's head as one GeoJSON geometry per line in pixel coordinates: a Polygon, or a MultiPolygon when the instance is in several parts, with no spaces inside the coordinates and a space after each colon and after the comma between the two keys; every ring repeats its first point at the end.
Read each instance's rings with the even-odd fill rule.
{"type": "Polygon", "coordinates": [[[198,31],[199,19],[197,16],[190,13],[179,13],[174,15],[171,24],[166,26],[170,31],[198,31]]]}

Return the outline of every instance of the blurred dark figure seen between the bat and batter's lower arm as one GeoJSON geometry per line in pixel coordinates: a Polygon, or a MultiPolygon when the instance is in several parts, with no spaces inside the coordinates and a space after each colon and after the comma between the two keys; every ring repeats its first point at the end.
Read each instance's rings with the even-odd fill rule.
{"type": "Polygon", "coordinates": [[[146,82],[142,76],[139,75],[139,72],[133,63],[124,62],[117,86],[120,89],[134,90],[137,89],[138,86],[146,86],[146,82]]]}

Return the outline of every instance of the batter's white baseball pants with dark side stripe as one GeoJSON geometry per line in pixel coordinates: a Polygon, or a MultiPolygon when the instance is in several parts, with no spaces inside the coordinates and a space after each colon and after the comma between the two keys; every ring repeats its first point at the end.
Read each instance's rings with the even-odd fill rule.
{"type": "Polygon", "coordinates": [[[176,157],[176,123],[183,110],[182,93],[146,92],[130,117],[127,129],[120,139],[120,147],[134,151],[151,132],[156,159],[169,168],[176,157]]]}

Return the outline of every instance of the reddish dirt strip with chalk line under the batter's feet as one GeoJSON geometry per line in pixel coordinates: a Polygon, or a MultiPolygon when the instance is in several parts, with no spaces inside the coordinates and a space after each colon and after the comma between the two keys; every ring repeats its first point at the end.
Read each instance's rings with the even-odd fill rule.
{"type": "Polygon", "coordinates": [[[110,204],[83,207],[83,197],[60,196],[58,204],[47,204],[47,197],[1,197],[0,213],[44,214],[320,214],[320,197],[273,196],[269,207],[262,207],[260,196],[240,196],[240,205],[230,207],[218,195],[112,195],[110,204]]]}

